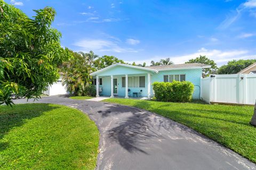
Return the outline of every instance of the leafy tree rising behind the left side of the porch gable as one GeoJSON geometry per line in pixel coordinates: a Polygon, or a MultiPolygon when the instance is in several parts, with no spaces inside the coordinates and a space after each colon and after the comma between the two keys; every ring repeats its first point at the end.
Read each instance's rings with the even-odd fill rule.
{"type": "Polygon", "coordinates": [[[103,69],[109,65],[116,64],[116,63],[122,63],[124,64],[123,60],[119,60],[115,56],[108,56],[104,55],[102,57],[99,57],[97,60],[94,61],[94,67],[97,70],[103,69]]]}

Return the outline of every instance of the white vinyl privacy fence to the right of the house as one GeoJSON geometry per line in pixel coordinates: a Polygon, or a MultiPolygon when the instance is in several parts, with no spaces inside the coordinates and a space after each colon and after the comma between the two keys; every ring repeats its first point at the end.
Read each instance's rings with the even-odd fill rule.
{"type": "Polygon", "coordinates": [[[201,99],[207,103],[255,104],[255,74],[216,74],[201,79],[201,99]]]}

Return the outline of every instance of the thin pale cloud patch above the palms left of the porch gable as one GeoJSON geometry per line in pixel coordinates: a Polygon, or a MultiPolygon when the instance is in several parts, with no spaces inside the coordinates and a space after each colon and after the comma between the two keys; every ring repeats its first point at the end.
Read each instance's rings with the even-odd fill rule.
{"type": "Polygon", "coordinates": [[[117,41],[108,39],[83,39],[74,43],[75,46],[81,47],[83,51],[93,50],[95,52],[115,52],[115,53],[137,53],[132,48],[120,47],[117,41]]]}

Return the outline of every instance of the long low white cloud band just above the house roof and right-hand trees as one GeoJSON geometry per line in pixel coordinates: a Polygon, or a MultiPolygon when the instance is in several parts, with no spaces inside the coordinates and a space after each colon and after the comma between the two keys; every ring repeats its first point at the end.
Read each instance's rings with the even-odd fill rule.
{"type": "MultiPolygon", "coordinates": [[[[222,64],[226,64],[230,60],[239,60],[239,59],[247,59],[247,58],[255,58],[254,56],[248,55],[249,51],[247,50],[218,50],[218,49],[206,49],[201,48],[195,53],[191,54],[185,54],[180,56],[168,56],[171,58],[171,61],[174,62],[174,64],[182,64],[187,61],[189,61],[192,58],[196,58],[199,55],[206,55],[211,60],[214,60],[219,66],[222,64]]],[[[166,58],[166,56],[155,56],[151,57],[146,60],[137,60],[137,61],[125,61],[127,63],[143,63],[146,62],[147,65],[150,65],[150,62],[153,61],[159,61],[163,58],[166,58]]]]}

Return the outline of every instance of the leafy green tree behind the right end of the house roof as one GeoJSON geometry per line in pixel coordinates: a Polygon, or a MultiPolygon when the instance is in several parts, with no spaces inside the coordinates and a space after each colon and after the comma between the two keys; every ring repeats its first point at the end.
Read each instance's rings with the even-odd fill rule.
{"type": "Polygon", "coordinates": [[[200,55],[199,57],[190,59],[186,63],[201,63],[201,64],[211,65],[209,69],[203,69],[203,74],[206,76],[211,73],[214,73],[218,69],[217,64],[213,60],[210,60],[210,58],[206,57],[205,55],[203,56],[200,55]]]}

